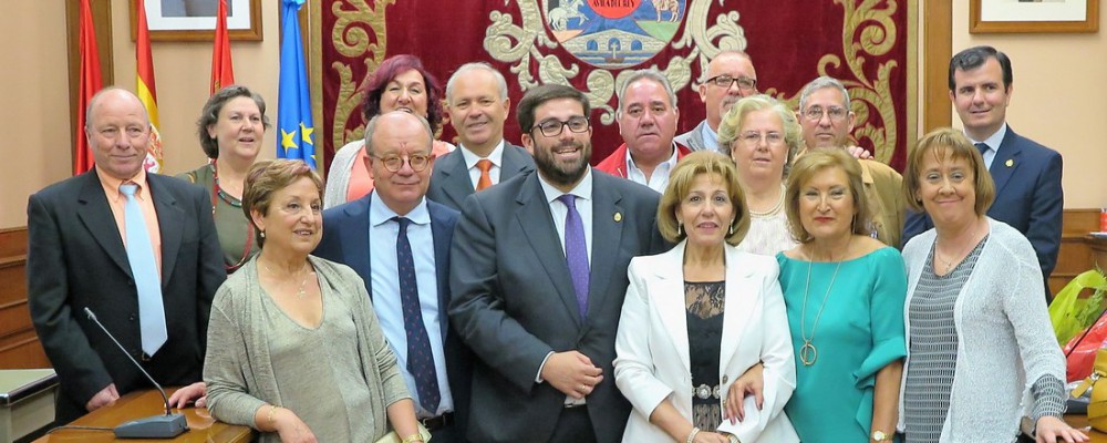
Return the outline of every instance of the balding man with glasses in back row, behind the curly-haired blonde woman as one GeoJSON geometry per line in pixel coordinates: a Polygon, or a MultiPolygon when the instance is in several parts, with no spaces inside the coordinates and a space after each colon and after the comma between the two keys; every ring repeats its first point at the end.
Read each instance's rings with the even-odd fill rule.
{"type": "Polygon", "coordinates": [[[695,128],[676,136],[676,143],[692,151],[718,151],[718,123],[739,99],[757,93],[753,59],[743,51],[720,52],[700,80],[700,100],[707,117],[695,128]]]}

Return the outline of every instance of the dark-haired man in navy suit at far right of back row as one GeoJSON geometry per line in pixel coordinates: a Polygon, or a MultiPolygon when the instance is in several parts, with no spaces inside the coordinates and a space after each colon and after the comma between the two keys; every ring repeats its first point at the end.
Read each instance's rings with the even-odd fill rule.
{"type": "MultiPolygon", "coordinates": [[[[1014,92],[1011,60],[992,47],[961,51],[950,60],[950,100],[995,181],[995,202],[987,216],[1006,223],[1031,240],[1049,296],[1049,274],[1057,264],[1065,195],[1061,154],[1007,126],[1014,92]]],[[[933,227],[925,214],[910,214],[903,244],[933,227]]]]}

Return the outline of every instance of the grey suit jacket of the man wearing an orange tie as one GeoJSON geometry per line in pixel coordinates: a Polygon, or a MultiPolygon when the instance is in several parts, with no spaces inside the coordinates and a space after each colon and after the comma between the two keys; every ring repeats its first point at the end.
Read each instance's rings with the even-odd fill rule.
{"type": "MultiPolygon", "coordinates": [[[[465,157],[458,147],[434,162],[434,173],[431,174],[431,187],[426,197],[461,210],[465,198],[475,193],[469,169],[465,166],[465,157]]],[[[526,172],[535,171],[535,158],[523,147],[504,142],[504,159],[499,168],[499,182],[526,172]]]]}

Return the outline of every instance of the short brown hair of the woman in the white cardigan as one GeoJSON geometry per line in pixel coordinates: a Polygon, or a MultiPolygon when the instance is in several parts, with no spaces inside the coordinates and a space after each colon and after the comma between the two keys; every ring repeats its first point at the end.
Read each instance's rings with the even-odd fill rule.
{"type": "Polygon", "coordinates": [[[933,155],[941,159],[949,153],[951,159],[963,159],[969,162],[973,172],[973,190],[976,193],[976,205],[973,207],[977,216],[987,213],[995,200],[995,183],[992,182],[992,174],[984,165],[984,157],[980,155],[976,146],[973,146],[961,131],[952,127],[942,127],[931,131],[914,144],[914,150],[907,156],[907,167],[903,169],[903,198],[908,206],[917,212],[927,210],[922,207],[922,200],[915,195],[922,185],[922,159],[924,155],[933,155]]]}

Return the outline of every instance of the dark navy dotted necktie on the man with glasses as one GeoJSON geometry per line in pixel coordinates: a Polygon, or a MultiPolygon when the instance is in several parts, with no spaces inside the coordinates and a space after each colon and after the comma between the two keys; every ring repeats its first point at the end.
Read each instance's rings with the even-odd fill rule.
{"type": "Polygon", "coordinates": [[[393,217],[400,224],[400,235],[396,236],[396,265],[400,269],[400,303],[404,310],[404,330],[407,332],[407,372],[415,378],[415,390],[418,393],[423,410],[435,414],[442,393],[438,392],[438,373],[434,368],[434,354],[431,353],[431,340],[423,324],[423,311],[418,302],[418,285],[415,280],[415,259],[412,257],[412,245],[407,240],[407,225],[412,220],[406,217],[393,217]]]}

